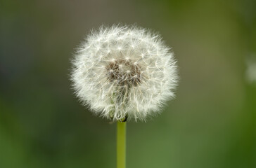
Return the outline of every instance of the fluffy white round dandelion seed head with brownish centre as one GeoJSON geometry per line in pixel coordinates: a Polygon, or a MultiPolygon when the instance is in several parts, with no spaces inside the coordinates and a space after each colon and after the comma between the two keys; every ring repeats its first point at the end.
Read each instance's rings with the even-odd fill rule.
{"type": "Polygon", "coordinates": [[[101,27],[72,60],[72,86],[91,111],[110,120],[145,120],[174,97],[177,64],[157,34],[101,27]]]}

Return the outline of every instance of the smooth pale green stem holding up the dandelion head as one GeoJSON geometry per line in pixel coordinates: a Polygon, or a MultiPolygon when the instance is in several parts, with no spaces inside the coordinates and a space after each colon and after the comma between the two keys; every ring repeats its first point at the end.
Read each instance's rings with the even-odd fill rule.
{"type": "Polygon", "coordinates": [[[126,123],[117,121],[117,168],[125,168],[126,123]]]}

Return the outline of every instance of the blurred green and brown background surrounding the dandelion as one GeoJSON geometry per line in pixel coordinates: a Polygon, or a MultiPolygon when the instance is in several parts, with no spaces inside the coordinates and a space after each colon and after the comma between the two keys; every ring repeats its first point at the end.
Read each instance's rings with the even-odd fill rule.
{"type": "Polygon", "coordinates": [[[127,125],[127,167],[256,167],[256,3],[0,1],[0,167],[115,167],[116,125],[70,89],[90,29],[148,27],[172,47],[177,98],[127,125]]]}

